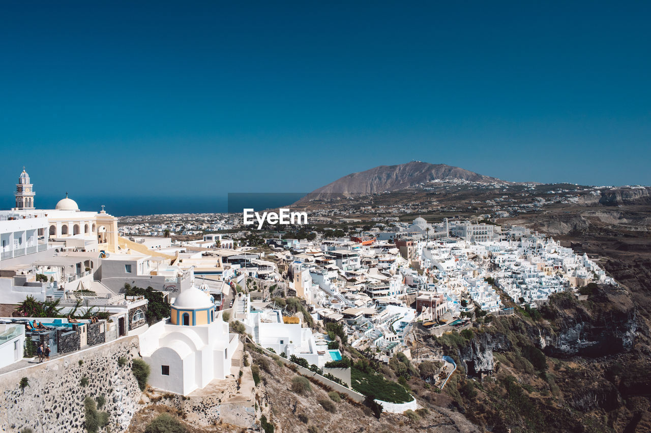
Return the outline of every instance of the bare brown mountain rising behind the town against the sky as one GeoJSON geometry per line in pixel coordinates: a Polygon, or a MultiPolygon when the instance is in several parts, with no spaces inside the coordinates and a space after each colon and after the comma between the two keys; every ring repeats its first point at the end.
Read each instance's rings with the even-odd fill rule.
{"type": "Polygon", "coordinates": [[[435,179],[508,183],[495,177],[483,176],[446,164],[411,161],[411,163],[406,164],[381,165],[365,172],[349,174],[327,184],[325,187],[315,189],[303,200],[324,200],[327,198],[363,196],[376,192],[395,191],[435,179]]]}

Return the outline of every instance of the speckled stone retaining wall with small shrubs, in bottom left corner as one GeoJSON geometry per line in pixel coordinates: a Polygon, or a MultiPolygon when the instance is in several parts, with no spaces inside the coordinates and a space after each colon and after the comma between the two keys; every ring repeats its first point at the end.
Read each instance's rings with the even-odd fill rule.
{"type": "Polygon", "coordinates": [[[128,428],[141,391],[131,371],[138,337],[124,337],[52,361],[0,375],[0,430],[85,433],[84,398],[104,395],[112,432],[128,428]],[[124,356],[128,363],[118,366],[124,356]],[[79,361],[83,361],[81,365],[79,361]],[[81,378],[89,379],[87,386],[81,378]],[[29,386],[20,389],[21,378],[29,386]]]}

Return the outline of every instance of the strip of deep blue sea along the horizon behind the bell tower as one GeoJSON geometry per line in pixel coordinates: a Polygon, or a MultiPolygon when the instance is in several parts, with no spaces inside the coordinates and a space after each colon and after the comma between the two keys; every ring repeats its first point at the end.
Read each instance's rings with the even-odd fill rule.
{"type": "MultiPolygon", "coordinates": [[[[242,212],[245,207],[256,211],[290,205],[305,196],[305,192],[245,192],[229,193],[223,196],[199,197],[107,197],[107,196],[72,196],[82,211],[105,210],[116,217],[130,215],[156,215],[169,213],[225,213],[242,212]]],[[[54,209],[60,196],[41,196],[36,191],[35,203],[37,209],[54,209]]],[[[0,197],[0,209],[14,207],[12,194],[3,194],[0,197]]]]}

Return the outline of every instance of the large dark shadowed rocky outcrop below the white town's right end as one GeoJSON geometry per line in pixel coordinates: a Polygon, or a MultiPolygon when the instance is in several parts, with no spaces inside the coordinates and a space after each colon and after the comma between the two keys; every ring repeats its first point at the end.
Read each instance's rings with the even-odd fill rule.
{"type": "Polygon", "coordinates": [[[637,331],[637,311],[626,289],[595,285],[596,293],[587,302],[564,293],[550,298],[557,315],[549,328],[529,328],[534,343],[555,357],[598,357],[633,348],[637,331]]]}

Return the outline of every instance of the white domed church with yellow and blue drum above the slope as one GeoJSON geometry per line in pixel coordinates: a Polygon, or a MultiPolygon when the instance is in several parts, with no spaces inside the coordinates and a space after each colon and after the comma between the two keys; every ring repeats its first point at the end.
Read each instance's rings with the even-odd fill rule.
{"type": "Polygon", "coordinates": [[[139,335],[151,386],[188,395],[230,374],[240,340],[218,313],[212,296],[192,286],[176,296],[169,319],[139,335]]]}

